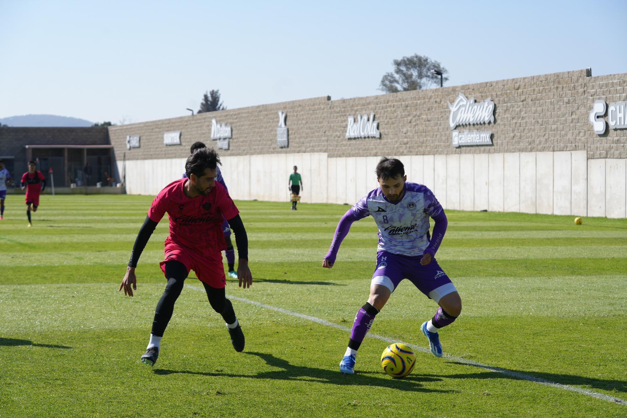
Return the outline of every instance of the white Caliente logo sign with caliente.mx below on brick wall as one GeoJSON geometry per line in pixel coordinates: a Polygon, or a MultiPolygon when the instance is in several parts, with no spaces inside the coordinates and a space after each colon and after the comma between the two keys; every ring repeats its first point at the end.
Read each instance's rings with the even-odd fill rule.
{"type": "Polygon", "coordinates": [[[468,99],[463,93],[457,96],[453,104],[449,103],[451,114],[448,117],[448,125],[453,129],[453,146],[463,147],[472,145],[492,145],[492,131],[468,131],[460,132],[455,127],[460,125],[478,125],[494,123],[494,102],[488,99],[483,102],[475,102],[475,98],[468,99]]]}

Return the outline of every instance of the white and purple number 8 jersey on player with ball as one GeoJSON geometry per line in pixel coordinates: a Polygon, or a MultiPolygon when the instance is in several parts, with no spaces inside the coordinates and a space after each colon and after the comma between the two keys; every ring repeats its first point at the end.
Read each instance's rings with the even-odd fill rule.
{"type": "Polygon", "coordinates": [[[405,183],[403,198],[388,201],[381,188],[370,191],[351,210],[358,218],[371,215],[379,227],[377,251],[409,256],[423,255],[431,242],[429,217],[442,212],[440,202],[427,186],[405,183]]]}

